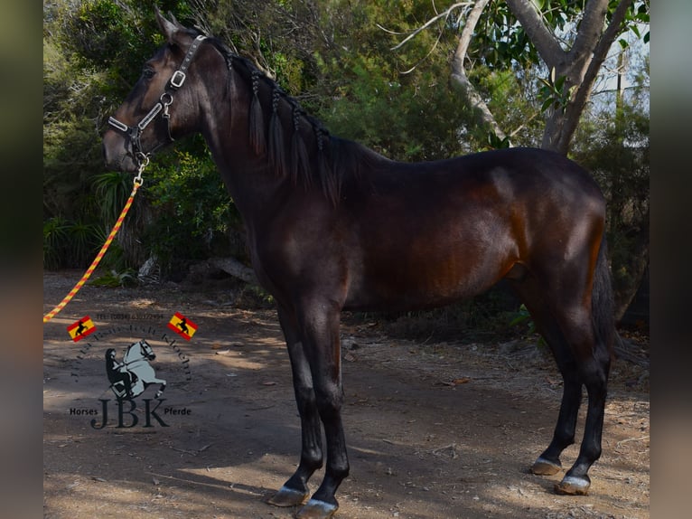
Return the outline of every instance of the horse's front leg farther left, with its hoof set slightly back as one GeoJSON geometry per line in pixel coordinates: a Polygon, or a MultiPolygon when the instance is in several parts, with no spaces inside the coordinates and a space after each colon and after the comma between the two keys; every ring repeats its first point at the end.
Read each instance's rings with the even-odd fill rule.
{"type": "Polygon", "coordinates": [[[303,342],[295,321],[295,315],[283,307],[278,309],[279,321],[284,331],[288,355],[293,371],[295,402],[301,420],[302,448],[300,464],[268,503],[276,506],[302,505],[310,495],[307,481],[323,465],[322,427],[313,390],[313,375],[305,356],[303,342]]]}

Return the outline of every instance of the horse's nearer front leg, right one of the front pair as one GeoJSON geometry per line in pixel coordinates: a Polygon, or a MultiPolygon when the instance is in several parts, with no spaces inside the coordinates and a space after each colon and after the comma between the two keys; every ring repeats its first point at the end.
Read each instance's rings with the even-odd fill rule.
{"type": "Polygon", "coordinates": [[[343,388],[339,321],[341,308],[330,300],[313,300],[299,317],[303,350],[313,375],[314,397],[327,441],[327,466],[322,485],[295,515],[299,519],[327,519],[339,508],[334,496],[349,475],[346,439],[341,422],[343,388]]]}

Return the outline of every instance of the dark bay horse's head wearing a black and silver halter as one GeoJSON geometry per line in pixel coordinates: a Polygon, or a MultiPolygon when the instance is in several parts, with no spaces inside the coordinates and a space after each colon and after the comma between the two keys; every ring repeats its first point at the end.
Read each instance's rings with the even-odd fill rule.
{"type": "Polygon", "coordinates": [[[103,137],[106,165],[136,172],[156,149],[198,129],[199,75],[204,68],[203,36],[183,27],[172,17],[168,21],[155,10],[166,43],[145,62],[142,76],[108,119],[103,137]],[[184,85],[184,86],[183,86],[184,85]]]}

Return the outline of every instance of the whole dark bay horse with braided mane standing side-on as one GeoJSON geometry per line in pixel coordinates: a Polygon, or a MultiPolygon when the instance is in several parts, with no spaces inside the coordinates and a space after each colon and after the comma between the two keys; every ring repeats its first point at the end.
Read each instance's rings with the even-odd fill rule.
{"type": "MultiPolygon", "coordinates": [[[[169,16],[170,17],[170,16],[169,16]]],[[[564,394],[553,439],[533,464],[585,494],[601,455],[614,335],[603,194],[584,169],[540,149],[510,148],[402,164],[332,137],[248,60],[220,41],[156,18],[167,40],[109,119],[110,167],[137,172],[154,150],[193,132],[210,147],[248,231],[257,278],[275,297],[302,425],[295,474],[273,505],[330,517],[349,473],[341,423],[340,314],[435,307],[509,280],[555,355],[564,394]],[[321,486],[304,503],[308,479],[321,486]]]]}

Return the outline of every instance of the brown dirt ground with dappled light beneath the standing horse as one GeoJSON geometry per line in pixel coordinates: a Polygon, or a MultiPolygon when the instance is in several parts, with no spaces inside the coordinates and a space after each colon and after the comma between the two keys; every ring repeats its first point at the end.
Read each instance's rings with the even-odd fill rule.
{"type": "MultiPolygon", "coordinates": [[[[80,274],[44,274],[44,314],[80,274]]],[[[238,292],[222,282],[87,285],[43,326],[45,518],[293,516],[265,503],[295,470],[300,449],[281,330],[276,312],[237,303],[238,292]],[[198,326],[191,340],[166,327],[175,312],[198,326]],[[67,327],[83,316],[96,331],[75,343],[67,327]],[[118,414],[104,355],[112,347],[121,359],[142,338],[167,381],[165,400],[155,407],[150,386],[134,410],[118,414]]],[[[553,492],[562,474],[528,472],[555,426],[562,386],[551,359],[519,339],[415,342],[388,332],[374,316],[344,316],[351,476],[337,495],[337,517],[650,516],[647,370],[614,363],[591,492],[562,496],[553,492]]],[[[577,449],[566,450],[565,467],[577,449]]]]}

